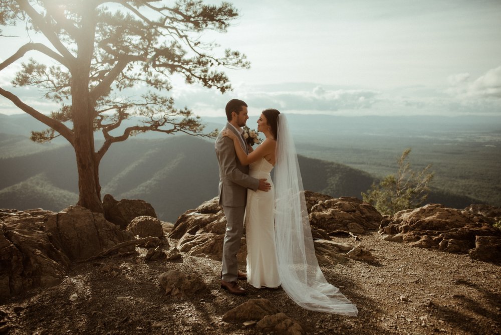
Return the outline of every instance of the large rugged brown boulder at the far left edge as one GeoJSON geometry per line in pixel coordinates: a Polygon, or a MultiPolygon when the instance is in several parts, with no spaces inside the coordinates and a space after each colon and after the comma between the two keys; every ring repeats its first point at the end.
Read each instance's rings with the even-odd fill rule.
{"type": "Polygon", "coordinates": [[[70,260],[43,224],[48,214],[0,210],[0,296],[57,285],[68,271],[70,260]]]}

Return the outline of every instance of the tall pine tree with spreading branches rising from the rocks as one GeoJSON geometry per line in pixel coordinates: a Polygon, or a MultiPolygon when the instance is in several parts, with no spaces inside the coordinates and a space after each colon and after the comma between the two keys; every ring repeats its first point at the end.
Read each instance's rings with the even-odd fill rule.
{"type": "Polygon", "coordinates": [[[175,73],[188,84],[214,87],[222,93],[231,88],[221,68],[248,68],[245,55],[226,49],[216,57],[216,45],[202,42],[201,35],[206,30],[225,32],[237,16],[228,3],[213,6],[197,0],[174,4],[159,0],[4,0],[0,27],[21,24],[30,35],[41,34],[47,42],[29,41],[20,46],[0,64],[0,71],[27,53],[43,54],[56,65],[44,64],[40,57],[30,58],[13,84],[36,86],[45,99],[61,108],[45,115],[2,87],[0,94],[49,127],[32,132],[34,141],[63,136],[71,143],[78,168],[78,205],[102,212],[99,163],[111,144],[145,131],[214,136],[204,134],[199,118],[186,107],[175,108],[173,99],[164,93],[171,89],[169,79],[175,73]],[[140,97],[124,94],[124,89],[138,85],[151,90],[140,97]],[[124,120],[137,116],[141,122],[111,134],[124,120]],[[98,149],[96,131],[105,139],[98,149]]]}

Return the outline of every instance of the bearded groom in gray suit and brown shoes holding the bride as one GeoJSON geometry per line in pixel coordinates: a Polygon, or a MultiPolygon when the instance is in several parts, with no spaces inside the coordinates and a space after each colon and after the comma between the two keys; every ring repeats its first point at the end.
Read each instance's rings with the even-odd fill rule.
{"type": "MultiPolygon", "coordinates": [[[[242,100],[231,99],[226,104],[228,122],[224,129],[229,129],[241,138],[241,146],[247,153],[247,145],[242,137],[243,127],[247,122],[247,104],[242,100]]],[[[223,130],[224,130],[223,129],[223,130]]],[[[258,180],[248,176],[248,165],[242,165],[236,157],[233,140],[217,136],[215,142],[217,162],[219,163],[219,204],[226,217],[226,233],[222,247],[221,288],[232,294],[245,294],[237,280],[246,279],[246,274],[238,271],[236,254],[240,249],[243,230],[243,216],[247,201],[247,189],[268,191],[271,185],[266,179],[258,180]]]]}

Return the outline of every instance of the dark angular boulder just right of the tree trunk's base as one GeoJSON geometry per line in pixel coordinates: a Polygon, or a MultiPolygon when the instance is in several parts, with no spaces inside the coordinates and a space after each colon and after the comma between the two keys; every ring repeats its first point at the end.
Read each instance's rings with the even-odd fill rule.
{"type": "Polygon", "coordinates": [[[125,230],[129,223],[138,216],[157,217],[153,207],[144,200],[122,199],[117,201],[107,194],[103,198],[103,207],[106,220],[120,226],[122,230],[125,230]]]}

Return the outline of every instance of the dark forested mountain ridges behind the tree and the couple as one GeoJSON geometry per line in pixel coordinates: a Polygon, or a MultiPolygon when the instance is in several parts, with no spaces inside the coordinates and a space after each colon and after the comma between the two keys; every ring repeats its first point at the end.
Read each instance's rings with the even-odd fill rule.
{"type": "MultiPolygon", "coordinates": [[[[25,139],[19,137],[23,143],[25,139]]],[[[346,165],[299,156],[306,189],[333,196],[360,196],[373,178],[346,165]]],[[[78,200],[76,164],[70,145],[0,159],[0,207],[61,210],[78,200]]],[[[213,142],[192,136],[130,139],[116,143],[100,166],[102,195],[143,199],[162,220],[217,196],[213,142]]]]}

